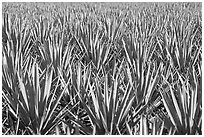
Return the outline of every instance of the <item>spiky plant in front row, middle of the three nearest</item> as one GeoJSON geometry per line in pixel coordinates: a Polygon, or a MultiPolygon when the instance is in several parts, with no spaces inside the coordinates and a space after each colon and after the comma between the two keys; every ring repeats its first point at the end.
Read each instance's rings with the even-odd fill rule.
{"type": "MultiPolygon", "coordinates": [[[[114,69],[116,69],[115,64],[114,69]]],[[[123,63],[120,65],[122,68],[123,63]]],[[[92,132],[81,122],[84,117],[74,115],[68,110],[66,113],[71,120],[79,127],[81,132],[89,134],[122,134],[121,126],[125,124],[131,104],[134,100],[132,86],[129,83],[124,89],[119,89],[118,83],[120,79],[120,70],[117,70],[115,75],[105,74],[104,80],[101,83],[99,78],[90,80],[90,73],[82,75],[81,65],[78,66],[76,93],[86,112],[86,117],[89,118],[92,125],[92,132]],[[86,76],[86,78],[84,78],[86,76]],[[112,77],[108,81],[108,77],[112,77]],[[82,83],[82,78],[86,80],[82,83]],[[113,83],[113,86],[109,82],[113,83]],[[85,85],[84,85],[85,84],[85,85]],[[103,86],[101,86],[103,85],[103,86]]],[[[64,121],[66,123],[66,121],[64,121]]],[[[124,132],[124,131],[123,131],[124,132]]]]}

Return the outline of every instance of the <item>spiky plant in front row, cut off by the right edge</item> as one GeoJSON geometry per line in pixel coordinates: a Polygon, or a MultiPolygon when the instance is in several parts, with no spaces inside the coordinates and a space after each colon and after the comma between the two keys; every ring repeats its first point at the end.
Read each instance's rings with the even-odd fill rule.
{"type": "Polygon", "coordinates": [[[175,126],[176,134],[200,134],[202,103],[201,81],[199,81],[195,68],[191,68],[188,79],[184,80],[182,74],[176,69],[178,80],[169,83],[166,77],[163,84],[166,88],[160,88],[162,101],[169,115],[169,119],[175,126]],[[176,113],[175,113],[176,112],[176,113]]]}

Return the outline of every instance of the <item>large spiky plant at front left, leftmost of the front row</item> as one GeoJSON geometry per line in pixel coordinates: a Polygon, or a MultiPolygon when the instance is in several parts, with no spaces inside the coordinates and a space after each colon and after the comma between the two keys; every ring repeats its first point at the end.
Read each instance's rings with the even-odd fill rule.
{"type": "Polygon", "coordinates": [[[42,74],[38,69],[37,63],[34,63],[32,71],[25,72],[25,76],[17,73],[17,81],[13,81],[16,83],[14,88],[6,82],[3,86],[3,98],[8,103],[8,111],[18,121],[16,134],[23,130],[29,134],[48,134],[59,122],[57,106],[64,90],[56,96],[59,82],[55,86],[52,84],[53,69],[47,68],[42,74]],[[19,125],[22,127],[19,128],[19,125]]]}

